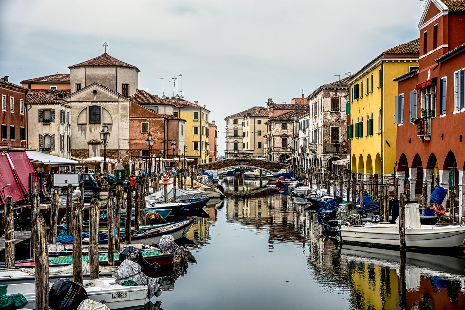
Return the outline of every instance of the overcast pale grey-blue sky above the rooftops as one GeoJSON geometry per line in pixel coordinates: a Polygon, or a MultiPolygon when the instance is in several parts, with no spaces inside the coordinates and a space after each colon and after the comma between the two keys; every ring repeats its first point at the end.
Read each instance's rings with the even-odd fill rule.
{"type": "Polygon", "coordinates": [[[139,88],[199,101],[218,125],[225,117],[290,103],[357,72],[388,48],[419,37],[424,0],[0,0],[0,76],[69,73],[107,52],[137,66],[139,88]],[[179,86],[180,88],[180,83],[179,86]],[[180,89],[179,89],[180,90],[180,89]],[[176,91],[175,91],[176,92],[176,91]]]}

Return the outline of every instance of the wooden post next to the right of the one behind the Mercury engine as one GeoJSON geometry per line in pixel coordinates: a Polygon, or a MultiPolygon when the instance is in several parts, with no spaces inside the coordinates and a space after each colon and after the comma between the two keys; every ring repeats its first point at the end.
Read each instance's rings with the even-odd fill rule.
{"type": "Polygon", "coordinates": [[[99,219],[99,200],[92,198],[89,207],[89,265],[91,280],[99,278],[99,219]]]}

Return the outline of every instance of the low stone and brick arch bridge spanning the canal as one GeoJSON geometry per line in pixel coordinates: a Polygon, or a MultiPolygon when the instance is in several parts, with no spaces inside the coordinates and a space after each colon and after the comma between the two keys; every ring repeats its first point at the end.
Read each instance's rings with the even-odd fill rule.
{"type": "Polygon", "coordinates": [[[281,169],[289,170],[291,165],[281,164],[274,161],[261,160],[257,158],[227,158],[199,164],[198,170],[222,170],[227,168],[255,168],[266,172],[278,172],[281,169]]]}

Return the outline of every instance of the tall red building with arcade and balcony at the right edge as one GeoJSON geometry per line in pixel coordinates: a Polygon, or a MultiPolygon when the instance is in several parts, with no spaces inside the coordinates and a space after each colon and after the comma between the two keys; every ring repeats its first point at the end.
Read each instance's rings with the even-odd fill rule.
{"type": "Polygon", "coordinates": [[[465,0],[428,0],[419,30],[419,68],[394,79],[398,82],[395,122],[399,192],[404,191],[407,175],[410,199],[417,200],[415,196],[421,196],[426,183],[427,205],[431,205],[429,195],[435,185],[446,189],[454,186],[458,205],[462,205],[455,212],[463,222],[465,0]]]}

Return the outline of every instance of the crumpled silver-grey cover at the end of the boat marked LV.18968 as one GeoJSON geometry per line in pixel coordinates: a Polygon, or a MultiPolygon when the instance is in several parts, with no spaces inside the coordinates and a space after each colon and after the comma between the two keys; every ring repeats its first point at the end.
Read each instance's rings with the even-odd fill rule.
{"type": "Polygon", "coordinates": [[[117,284],[123,285],[127,280],[132,280],[138,285],[147,285],[148,292],[147,298],[151,299],[153,296],[159,297],[161,290],[158,287],[157,279],[147,277],[142,273],[140,264],[134,263],[132,260],[124,260],[118,267],[118,273],[113,271],[113,276],[117,284]]]}

